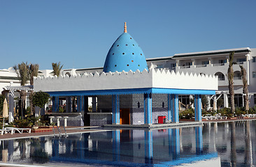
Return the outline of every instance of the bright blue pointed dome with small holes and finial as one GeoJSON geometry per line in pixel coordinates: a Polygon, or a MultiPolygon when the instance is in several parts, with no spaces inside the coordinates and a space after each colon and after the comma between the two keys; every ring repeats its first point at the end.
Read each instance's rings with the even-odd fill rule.
{"type": "Polygon", "coordinates": [[[144,69],[148,70],[145,56],[141,47],[138,46],[134,38],[127,33],[125,23],[125,33],[115,40],[111,49],[108,51],[104,64],[104,72],[128,72],[144,69]]]}

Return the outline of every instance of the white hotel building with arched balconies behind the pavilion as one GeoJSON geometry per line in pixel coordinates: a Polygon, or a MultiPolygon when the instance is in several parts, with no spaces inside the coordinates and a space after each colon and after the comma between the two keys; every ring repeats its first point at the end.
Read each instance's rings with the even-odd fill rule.
{"type": "MultiPolygon", "coordinates": [[[[249,47],[237,48],[237,49],[222,49],[215,51],[199,51],[185,54],[175,54],[169,57],[159,58],[147,58],[148,68],[175,70],[176,72],[194,72],[200,74],[215,74],[218,75],[219,87],[218,94],[212,99],[223,98],[224,106],[228,107],[228,79],[227,69],[229,67],[229,53],[234,51],[234,90],[235,90],[235,105],[243,106],[243,81],[241,79],[240,67],[243,65],[247,72],[248,90],[250,106],[256,105],[256,49],[250,49],[249,47]]],[[[73,74],[83,74],[102,72],[103,67],[84,68],[84,69],[65,69],[61,74],[71,76],[73,74]]],[[[49,77],[52,75],[52,70],[40,70],[40,75],[49,77]]],[[[9,68],[8,70],[0,70],[0,86],[1,90],[4,86],[10,86],[10,82],[13,86],[19,85],[17,80],[17,74],[15,71],[9,68]]],[[[207,83],[206,83],[207,84],[207,83]]],[[[189,103],[187,96],[181,97],[183,103],[189,103]],[[186,102],[187,100],[187,102],[186,102]]],[[[213,103],[213,102],[212,102],[213,103]]]]}

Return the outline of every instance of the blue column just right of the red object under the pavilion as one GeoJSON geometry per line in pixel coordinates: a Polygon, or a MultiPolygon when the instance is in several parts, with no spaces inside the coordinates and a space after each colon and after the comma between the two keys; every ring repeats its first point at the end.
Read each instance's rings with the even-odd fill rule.
{"type": "Polygon", "coordinates": [[[178,123],[178,95],[171,94],[171,122],[178,123]]]}

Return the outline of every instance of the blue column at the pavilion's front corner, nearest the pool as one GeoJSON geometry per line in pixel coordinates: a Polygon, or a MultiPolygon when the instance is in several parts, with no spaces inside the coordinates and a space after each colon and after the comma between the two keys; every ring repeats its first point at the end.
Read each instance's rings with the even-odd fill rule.
{"type": "Polygon", "coordinates": [[[152,94],[144,94],[144,124],[152,124],[152,94]]]}

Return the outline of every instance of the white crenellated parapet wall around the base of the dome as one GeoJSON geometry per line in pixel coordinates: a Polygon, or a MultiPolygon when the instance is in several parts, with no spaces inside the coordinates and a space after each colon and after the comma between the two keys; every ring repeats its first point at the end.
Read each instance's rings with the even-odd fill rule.
{"type": "Polygon", "coordinates": [[[218,90],[218,77],[184,74],[169,70],[142,72],[96,72],[65,77],[34,77],[35,91],[111,90],[129,88],[178,88],[218,90]]]}

